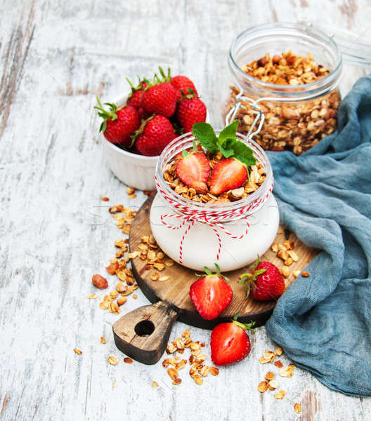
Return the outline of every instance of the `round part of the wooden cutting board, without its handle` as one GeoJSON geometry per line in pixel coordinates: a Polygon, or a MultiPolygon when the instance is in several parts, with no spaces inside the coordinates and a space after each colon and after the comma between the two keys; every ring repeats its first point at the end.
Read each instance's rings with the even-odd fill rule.
{"type": "MultiPolygon", "coordinates": [[[[143,236],[151,234],[150,206],[153,197],[154,196],[150,196],[148,200],[143,203],[143,206],[138,210],[136,218],[131,224],[129,235],[129,248],[131,252],[138,250],[138,245],[141,243],[143,236]]],[[[275,243],[283,243],[285,240],[294,242],[294,250],[297,255],[299,255],[299,261],[294,262],[289,266],[290,272],[297,269],[304,269],[304,267],[308,265],[308,262],[310,262],[318,253],[318,250],[305,246],[297,239],[297,236],[288,232],[285,227],[280,225],[278,234],[275,238],[275,243]]],[[[278,267],[283,266],[282,260],[280,260],[280,258],[271,250],[268,250],[261,259],[273,262],[278,267]]],[[[256,326],[262,326],[275,307],[274,300],[269,302],[258,302],[252,298],[246,298],[245,286],[237,283],[240,274],[247,272],[248,267],[244,267],[226,273],[226,276],[230,279],[229,284],[233,290],[233,300],[228,309],[214,320],[204,320],[200,314],[197,313],[189,296],[190,285],[197,279],[195,271],[175,263],[173,266],[166,267],[162,272],[159,272],[156,269],[149,267],[146,260],[141,260],[141,258],[138,257],[131,259],[131,265],[138,286],[148,300],[152,303],[157,301],[167,303],[169,307],[178,313],[178,320],[188,323],[191,326],[212,329],[223,321],[229,321],[238,312],[240,313],[240,321],[255,321],[256,326]],[[169,275],[170,278],[167,281],[151,281],[150,275],[152,272],[159,272],[160,276],[169,275]]],[[[289,278],[285,280],[286,286],[289,286],[294,279],[294,276],[290,274],[289,278]]]]}

